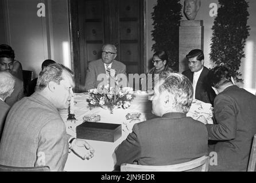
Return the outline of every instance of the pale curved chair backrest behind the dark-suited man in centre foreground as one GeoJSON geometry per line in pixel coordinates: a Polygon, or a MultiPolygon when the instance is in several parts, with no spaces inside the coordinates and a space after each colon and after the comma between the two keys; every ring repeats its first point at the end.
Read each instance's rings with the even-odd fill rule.
{"type": "Polygon", "coordinates": [[[184,162],[182,164],[165,166],[148,166],[122,164],[121,172],[207,172],[209,166],[209,157],[202,156],[196,160],[184,162]]]}

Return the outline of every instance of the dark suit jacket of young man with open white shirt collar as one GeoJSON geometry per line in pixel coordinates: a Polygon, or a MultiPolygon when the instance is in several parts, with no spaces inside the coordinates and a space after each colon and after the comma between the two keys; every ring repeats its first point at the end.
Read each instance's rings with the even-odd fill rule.
{"type": "MultiPolygon", "coordinates": [[[[214,90],[212,89],[212,87],[209,85],[209,82],[207,81],[207,75],[208,75],[209,69],[207,69],[207,67],[203,67],[203,70],[198,78],[198,81],[196,83],[196,99],[206,102],[206,103],[210,103],[210,104],[214,104],[214,98],[216,97],[216,94],[214,92],[214,90]]],[[[194,73],[188,69],[185,70],[182,74],[184,74],[185,76],[187,76],[189,78],[189,80],[193,83],[193,76],[194,73]]]]}

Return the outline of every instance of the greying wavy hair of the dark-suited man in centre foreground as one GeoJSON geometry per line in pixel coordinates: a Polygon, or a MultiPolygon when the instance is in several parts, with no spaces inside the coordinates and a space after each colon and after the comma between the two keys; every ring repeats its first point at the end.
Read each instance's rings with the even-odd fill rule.
{"type": "Polygon", "coordinates": [[[193,86],[191,81],[183,74],[165,71],[160,75],[159,92],[172,94],[173,108],[180,113],[188,113],[193,101],[193,86]]]}

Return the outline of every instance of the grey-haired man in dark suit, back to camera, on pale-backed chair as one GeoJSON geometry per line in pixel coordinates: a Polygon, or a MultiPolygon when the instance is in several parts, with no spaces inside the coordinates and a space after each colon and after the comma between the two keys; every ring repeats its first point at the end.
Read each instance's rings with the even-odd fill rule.
{"type": "Polygon", "coordinates": [[[115,169],[123,163],[172,165],[207,154],[205,125],[186,117],[193,88],[187,77],[164,73],[154,86],[152,113],[159,118],[137,123],[133,132],[115,150],[115,169]]]}

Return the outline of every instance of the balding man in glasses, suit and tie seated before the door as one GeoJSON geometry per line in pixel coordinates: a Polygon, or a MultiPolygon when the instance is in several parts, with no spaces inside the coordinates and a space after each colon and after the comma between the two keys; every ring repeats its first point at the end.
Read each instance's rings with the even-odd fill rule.
{"type": "Polygon", "coordinates": [[[106,74],[108,78],[115,78],[117,74],[126,74],[126,66],[119,61],[116,61],[117,47],[115,45],[104,45],[102,47],[102,58],[88,63],[86,74],[86,92],[90,89],[98,87],[102,80],[98,81],[99,74],[106,74]]]}

